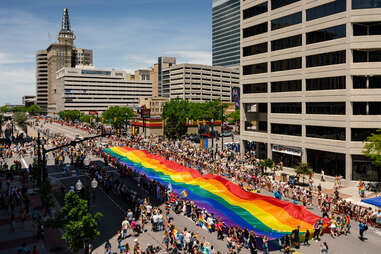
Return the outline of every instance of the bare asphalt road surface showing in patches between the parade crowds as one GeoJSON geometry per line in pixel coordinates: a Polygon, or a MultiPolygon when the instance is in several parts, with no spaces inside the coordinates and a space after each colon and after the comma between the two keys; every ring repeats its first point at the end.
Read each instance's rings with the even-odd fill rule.
{"type": "MultiPolygon", "coordinates": [[[[49,129],[54,132],[61,132],[64,135],[85,135],[83,132],[69,127],[62,127],[57,125],[49,125],[49,129]]],[[[96,158],[90,158],[91,160],[96,160],[96,158]]],[[[30,163],[32,158],[26,157],[25,161],[30,163]]],[[[78,174],[75,172],[75,175],[72,176],[64,176],[62,171],[54,168],[54,161],[52,158],[48,158],[48,172],[49,176],[54,181],[59,181],[63,183],[67,188],[73,186],[78,179],[81,179],[82,182],[85,182],[86,179],[82,174],[78,174]]],[[[110,173],[115,174],[115,171],[110,170],[110,173]]],[[[128,179],[124,179],[124,181],[128,182],[128,186],[130,188],[137,189],[137,186],[134,186],[133,181],[128,179]]],[[[137,189],[138,190],[138,189],[137,189]]],[[[62,203],[62,195],[57,193],[57,199],[62,203]]],[[[129,204],[124,203],[118,196],[115,194],[106,194],[102,189],[98,188],[95,193],[95,201],[91,203],[91,211],[99,211],[103,213],[103,218],[100,221],[100,231],[101,236],[94,242],[94,246],[97,248],[95,253],[103,254],[104,249],[103,245],[107,239],[111,239],[113,252],[117,252],[117,243],[116,243],[116,232],[120,228],[121,221],[126,214],[126,209],[128,209],[129,204]]],[[[319,211],[314,210],[315,213],[319,213],[319,211]]],[[[171,214],[174,218],[174,223],[179,227],[180,230],[183,227],[187,227],[193,232],[199,232],[200,236],[205,237],[216,250],[220,250],[221,253],[227,253],[226,243],[224,241],[216,240],[215,234],[210,234],[205,230],[195,226],[195,224],[188,218],[182,215],[171,214]]],[[[139,243],[142,247],[146,247],[148,244],[153,244],[155,246],[161,245],[162,242],[162,232],[152,232],[151,226],[146,225],[148,229],[147,232],[141,234],[136,237],[139,239],[139,243]]],[[[365,236],[367,237],[366,241],[360,241],[358,239],[358,223],[352,223],[352,234],[348,236],[340,236],[337,238],[332,238],[329,235],[324,235],[322,237],[323,241],[326,241],[329,246],[329,253],[361,253],[361,254],[376,254],[381,251],[381,232],[375,229],[370,228],[365,236]]],[[[130,246],[133,245],[134,236],[129,237],[124,240],[123,243],[129,242],[130,246]]],[[[312,254],[312,253],[320,253],[320,242],[310,241],[311,245],[308,247],[301,247],[298,250],[300,253],[312,254]]],[[[163,251],[161,253],[164,253],[163,251]]],[[[248,250],[243,250],[241,253],[249,253],[248,250]]],[[[272,253],[280,253],[279,251],[275,251],[272,253]]]]}

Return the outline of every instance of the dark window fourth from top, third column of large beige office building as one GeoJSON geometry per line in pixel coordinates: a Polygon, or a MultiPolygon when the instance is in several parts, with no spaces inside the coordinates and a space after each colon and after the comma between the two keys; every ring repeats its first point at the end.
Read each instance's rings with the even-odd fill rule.
{"type": "Polygon", "coordinates": [[[306,79],[306,90],[336,90],[345,89],[345,76],[306,79]]]}

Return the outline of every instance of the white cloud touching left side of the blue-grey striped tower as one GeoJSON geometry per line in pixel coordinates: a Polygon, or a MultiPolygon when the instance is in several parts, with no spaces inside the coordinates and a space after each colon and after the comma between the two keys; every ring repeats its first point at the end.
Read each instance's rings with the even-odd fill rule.
{"type": "Polygon", "coordinates": [[[193,64],[212,64],[212,53],[209,51],[199,50],[179,50],[168,51],[167,55],[175,56],[177,63],[193,63],[193,64]]]}

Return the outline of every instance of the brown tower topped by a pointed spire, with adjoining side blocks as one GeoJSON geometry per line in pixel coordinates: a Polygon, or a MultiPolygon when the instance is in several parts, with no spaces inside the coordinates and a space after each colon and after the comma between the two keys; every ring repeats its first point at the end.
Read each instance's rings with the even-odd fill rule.
{"type": "Polygon", "coordinates": [[[74,47],[75,35],[71,31],[69,12],[66,8],[63,12],[61,30],[58,33],[57,39],[58,43],[53,43],[45,51],[39,50],[36,54],[37,104],[42,107],[41,109],[44,113],[55,113],[56,111],[56,72],[63,67],[93,64],[92,50],[74,47]],[[45,64],[46,59],[44,57],[47,58],[47,88],[45,83],[41,83],[45,80],[40,80],[38,76],[41,74],[39,68],[43,68],[42,65],[45,64]]]}

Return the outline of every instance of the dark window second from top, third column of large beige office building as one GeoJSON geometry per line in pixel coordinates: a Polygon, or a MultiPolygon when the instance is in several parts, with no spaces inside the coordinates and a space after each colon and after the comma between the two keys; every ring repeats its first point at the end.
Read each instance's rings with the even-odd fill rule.
{"type": "Polygon", "coordinates": [[[307,44],[345,38],[346,25],[328,27],[325,29],[307,33],[307,44]]]}

